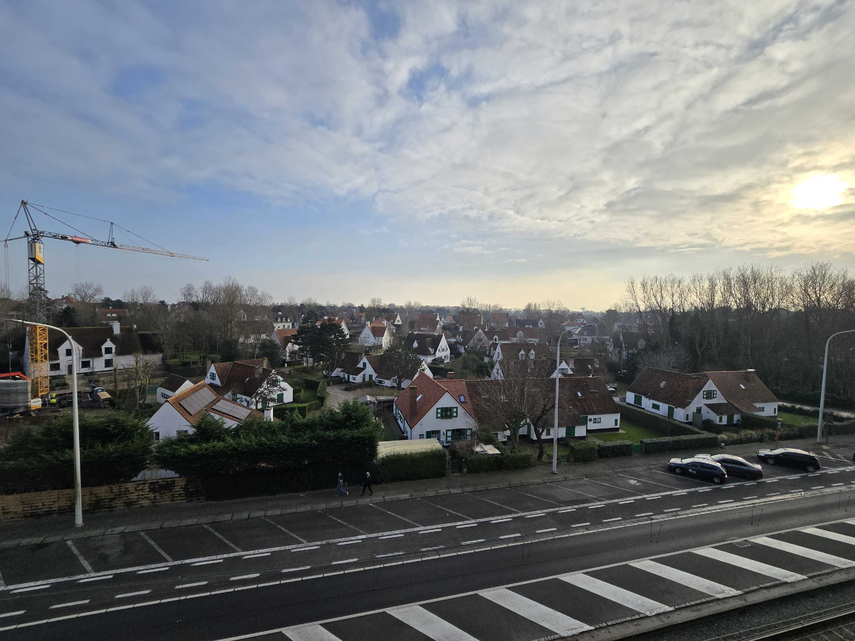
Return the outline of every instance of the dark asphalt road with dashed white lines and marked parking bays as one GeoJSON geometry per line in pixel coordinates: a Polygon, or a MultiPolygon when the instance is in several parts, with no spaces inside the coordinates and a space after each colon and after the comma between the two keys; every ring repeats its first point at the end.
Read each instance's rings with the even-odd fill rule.
{"type": "MultiPolygon", "coordinates": [[[[855,469],[841,461],[823,462],[833,467],[818,475],[767,468],[758,483],[714,486],[649,470],[528,485],[518,491],[451,494],[430,501],[9,548],[0,550],[6,584],[0,591],[0,626],[38,623],[0,634],[96,639],[115,638],[121,631],[121,638],[227,638],[375,609],[384,610],[378,613],[381,620],[400,622],[385,610],[472,591],[460,598],[464,603],[475,600],[477,607],[470,604],[464,609],[488,613],[481,616],[483,625],[470,631],[475,632],[473,638],[499,638],[487,623],[501,617],[489,614],[492,606],[486,606],[482,602],[486,597],[479,593],[488,588],[845,519],[855,469]],[[58,620],[40,622],[50,619],[58,620]]],[[[855,531],[849,524],[837,527],[855,531]]],[[[813,540],[817,535],[806,536],[813,540]]],[[[844,553],[848,544],[819,540],[822,549],[834,543],[840,548],[837,558],[848,558],[844,553]]],[[[728,545],[740,554],[742,548],[728,545]]],[[[752,545],[755,549],[764,546],[752,545]]],[[[712,562],[697,554],[690,558],[695,566],[712,562]]],[[[768,556],[764,558],[769,562],[768,556]]],[[[828,568],[810,561],[819,563],[820,570],[828,568]]],[[[794,562],[788,567],[793,573],[819,571],[794,562]]],[[[738,569],[728,567],[725,574],[736,576],[738,569]]],[[[642,575],[644,581],[638,580],[638,572],[633,570],[636,579],[623,589],[641,591],[643,585],[654,585],[646,576],[649,572],[642,575]]],[[[721,573],[710,568],[705,572],[721,573]]],[[[626,574],[600,580],[615,585],[626,574]]],[[[550,592],[556,580],[569,589],[563,579],[550,580],[550,592]]],[[[744,579],[732,589],[744,590],[743,583],[752,580],[759,579],[744,579]]],[[[663,596],[667,585],[656,588],[659,601],[656,591],[646,598],[669,608],[679,605],[671,603],[679,597],[663,596]]],[[[586,602],[576,594],[567,603],[586,602]]],[[[585,608],[602,615],[621,612],[613,603],[607,609],[596,610],[593,604],[585,608]]],[[[451,610],[442,612],[454,619],[451,610]]],[[[423,616],[421,610],[417,614],[423,616]]],[[[356,638],[381,633],[405,638],[398,636],[400,631],[384,632],[381,623],[363,620],[364,636],[356,638]]],[[[508,625],[516,631],[509,638],[540,638],[532,636],[540,628],[529,623],[508,625]]],[[[329,632],[327,627],[323,630],[329,632]]],[[[351,638],[338,633],[335,637],[351,638]]]]}

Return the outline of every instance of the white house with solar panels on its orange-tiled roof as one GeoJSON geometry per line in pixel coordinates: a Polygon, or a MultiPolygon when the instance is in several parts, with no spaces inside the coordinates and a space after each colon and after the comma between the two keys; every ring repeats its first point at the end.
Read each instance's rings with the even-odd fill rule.
{"type": "MultiPolygon", "coordinates": [[[[272,420],[272,410],[266,418],[272,420]]],[[[154,439],[177,436],[193,432],[193,426],[204,416],[222,420],[227,427],[236,426],[249,418],[263,418],[256,409],[245,408],[227,398],[220,397],[210,385],[202,381],[173,397],[167,398],[148,420],[154,439]]]]}

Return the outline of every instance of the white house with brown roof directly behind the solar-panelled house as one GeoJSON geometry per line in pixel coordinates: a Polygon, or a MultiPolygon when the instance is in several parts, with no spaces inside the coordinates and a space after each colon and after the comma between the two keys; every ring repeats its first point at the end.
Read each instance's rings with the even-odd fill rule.
{"type": "Polygon", "coordinates": [[[266,358],[215,362],[205,381],[221,397],[248,408],[267,409],[294,400],[292,386],[274,369],[268,368],[266,358]]]}

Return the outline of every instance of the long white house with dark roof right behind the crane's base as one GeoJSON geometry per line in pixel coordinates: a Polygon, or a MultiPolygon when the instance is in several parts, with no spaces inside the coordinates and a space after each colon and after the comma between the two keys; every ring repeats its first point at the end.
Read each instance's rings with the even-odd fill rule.
{"type": "MultiPolygon", "coordinates": [[[[122,327],[119,321],[109,326],[66,327],[74,345],[55,330],[48,330],[48,373],[51,376],[71,373],[76,352],[78,373],[109,372],[113,368],[132,367],[134,355],[146,361],[161,362],[162,349],[155,332],[137,332],[135,327],[122,327]]],[[[24,354],[30,353],[30,338],[24,343],[24,354]]],[[[23,359],[24,373],[29,375],[30,359],[23,359]]]]}

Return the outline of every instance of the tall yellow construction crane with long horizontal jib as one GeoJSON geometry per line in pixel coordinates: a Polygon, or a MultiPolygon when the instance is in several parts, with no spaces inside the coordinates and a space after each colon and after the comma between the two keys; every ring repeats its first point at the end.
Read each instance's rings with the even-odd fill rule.
{"type": "MultiPolygon", "coordinates": [[[[34,306],[32,310],[33,321],[37,323],[47,322],[47,290],[44,288],[44,243],[42,243],[43,238],[56,238],[56,240],[68,240],[68,242],[80,245],[80,244],[91,244],[96,245],[97,247],[109,247],[114,250],[127,250],[127,251],[142,251],[146,254],[157,254],[159,256],[170,256],[172,258],[189,258],[193,261],[207,261],[207,258],[202,258],[201,256],[190,256],[189,254],[178,254],[174,251],[164,250],[162,247],[153,250],[150,247],[137,247],[135,245],[129,244],[116,244],[113,238],[113,227],[117,226],[121,230],[131,233],[137,238],[141,238],[145,240],[141,236],[130,232],[124,227],[118,226],[111,221],[104,221],[100,218],[95,218],[93,216],[85,216],[80,214],[73,214],[81,216],[82,218],[88,218],[93,221],[100,221],[109,223],[109,235],[107,240],[97,240],[96,238],[92,238],[89,234],[85,232],[81,232],[79,229],[68,225],[68,223],[60,221],[55,215],[48,214],[48,212],[44,211],[44,209],[51,209],[53,211],[62,212],[64,214],[72,214],[72,212],[63,211],[62,209],[55,209],[53,207],[45,207],[44,205],[34,205],[32,203],[28,203],[26,200],[21,201],[21,205],[18,207],[18,211],[15,213],[15,220],[12,221],[12,226],[15,226],[15,221],[18,220],[18,216],[21,215],[21,212],[24,212],[24,215],[27,217],[27,225],[30,227],[28,231],[24,232],[23,236],[15,236],[15,238],[6,238],[4,242],[4,247],[9,246],[10,240],[19,240],[21,238],[27,238],[27,282],[28,282],[28,293],[30,297],[30,302],[34,306]],[[69,235],[67,233],[56,233],[56,232],[45,232],[44,230],[38,229],[36,226],[36,221],[32,216],[31,209],[44,214],[45,216],[54,219],[57,222],[62,223],[74,229],[75,232],[78,232],[80,235],[69,235]]],[[[12,227],[9,227],[9,232],[12,231],[12,227]]],[[[7,234],[8,236],[9,234],[7,234]]],[[[146,241],[150,242],[150,241],[146,241]]],[[[7,280],[9,279],[9,268],[7,265],[7,280]]],[[[44,326],[30,326],[29,330],[29,339],[30,339],[30,379],[32,380],[32,396],[33,397],[44,397],[50,391],[50,387],[48,385],[48,330],[47,327],[44,326]]]]}

